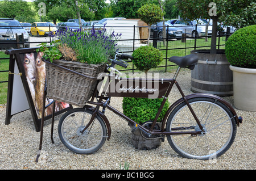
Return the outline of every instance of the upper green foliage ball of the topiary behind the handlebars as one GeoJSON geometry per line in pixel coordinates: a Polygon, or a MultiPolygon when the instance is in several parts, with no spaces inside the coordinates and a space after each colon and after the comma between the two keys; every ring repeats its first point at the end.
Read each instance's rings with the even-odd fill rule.
{"type": "Polygon", "coordinates": [[[133,57],[134,65],[146,73],[150,69],[157,68],[163,60],[160,50],[150,46],[141,46],[134,50],[133,57]]]}

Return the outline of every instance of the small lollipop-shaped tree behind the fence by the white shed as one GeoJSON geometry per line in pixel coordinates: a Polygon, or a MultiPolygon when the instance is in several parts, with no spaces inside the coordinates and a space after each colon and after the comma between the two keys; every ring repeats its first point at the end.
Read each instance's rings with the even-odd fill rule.
{"type": "Polygon", "coordinates": [[[162,19],[163,12],[160,7],[155,4],[147,4],[143,5],[138,10],[138,16],[139,18],[141,18],[141,20],[143,20],[143,22],[147,23],[149,26],[147,39],[147,45],[149,45],[151,26],[152,24],[157,23],[162,19]]]}

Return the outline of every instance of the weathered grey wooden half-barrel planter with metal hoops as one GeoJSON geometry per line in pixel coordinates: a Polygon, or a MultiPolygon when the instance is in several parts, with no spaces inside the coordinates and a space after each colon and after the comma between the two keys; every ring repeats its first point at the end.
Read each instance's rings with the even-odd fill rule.
{"type": "Polygon", "coordinates": [[[192,50],[199,56],[198,64],[191,70],[191,90],[218,96],[233,95],[233,74],[224,49],[216,54],[210,50],[192,50]]]}

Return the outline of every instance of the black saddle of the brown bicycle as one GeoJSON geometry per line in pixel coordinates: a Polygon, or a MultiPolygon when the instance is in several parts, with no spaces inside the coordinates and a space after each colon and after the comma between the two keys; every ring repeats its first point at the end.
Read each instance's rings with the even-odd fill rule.
{"type": "Polygon", "coordinates": [[[188,54],[184,57],[172,56],[169,58],[170,62],[174,62],[179,65],[181,68],[188,68],[193,70],[198,61],[198,56],[196,54],[188,54]]]}

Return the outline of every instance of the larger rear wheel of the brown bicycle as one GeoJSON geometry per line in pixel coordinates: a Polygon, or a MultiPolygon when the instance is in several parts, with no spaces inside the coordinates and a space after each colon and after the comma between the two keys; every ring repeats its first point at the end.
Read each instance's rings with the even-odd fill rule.
{"type": "MultiPolygon", "coordinates": [[[[224,154],[236,137],[236,121],[225,104],[211,98],[193,98],[189,104],[203,126],[203,134],[168,135],[176,153],[185,158],[214,159],[224,154]]],[[[185,102],[171,112],[166,131],[201,131],[185,102]]]]}

